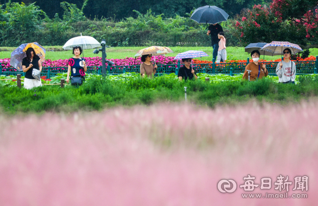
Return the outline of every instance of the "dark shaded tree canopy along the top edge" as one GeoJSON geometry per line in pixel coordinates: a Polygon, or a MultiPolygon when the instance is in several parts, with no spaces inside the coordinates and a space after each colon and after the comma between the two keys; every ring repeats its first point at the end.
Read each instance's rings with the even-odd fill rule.
{"type": "MultiPolygon", "coordinates": [[[[28,5],[36,2],[50,18],[54,18],[55,13],[63,15],[61,2],[65,0],[23,0],[28,5]]],[[[66,0],[68,3],[77,4],[78,8],[83,6],[87,0],[66,0]]],[[[234,16],[240,12],[242,8],[251,8],[254,4],[264,4],[270,0],[88,0],[87,5],[82,10],[87,18],[114,18],[120,20],[126,17],[137,17],[133,10],[146,13],[151,9],[155,14],[164,14],[163,17],[174,17],[176,15],[186,16],[193,8],[204,5],[216,5],[223,8],[234,16]]],[[[1,4],[8,0],[0,0],[1,4]]],[[[11,0],[11,2],[19,2],[19,0],[11,0]]]]}

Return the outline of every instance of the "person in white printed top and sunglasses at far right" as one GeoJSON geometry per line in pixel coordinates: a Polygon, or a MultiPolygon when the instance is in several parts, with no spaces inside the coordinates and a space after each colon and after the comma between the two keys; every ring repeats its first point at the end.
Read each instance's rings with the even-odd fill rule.
{"type": "Polygon", "coordinates": [[[290,49],[284,49],[283,53],[284,61],[281,61],[279,64],[277,64],[276,68],[278,82],[295,84],[296,64],[290,60],[292,51],[290,49]]]}

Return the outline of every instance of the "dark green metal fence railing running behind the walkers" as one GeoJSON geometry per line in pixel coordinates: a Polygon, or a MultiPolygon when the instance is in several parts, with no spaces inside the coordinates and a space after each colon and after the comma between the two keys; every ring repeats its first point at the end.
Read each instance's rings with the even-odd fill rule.
{"type": "MultiPolygon", "coordinates": [[[[247,58],[247,62],[243,63],[213,63],[210,64],[192,64],[192,67],[198,73],[207,73],[207,74],[240,74],[245,70],[246,65],[249,62],[249,58],[247,58]]],[[[276,67],[279,62],[264,62],[266,68],[268,70],[269,75],[276,75],[276,67]]],[[[318,68],[318,56],[316,57],[316,61],[297,61],[296,63],[296,74],[317,74],[318,68]]],[[[177,64],[169,64],[169,65],[158,65],[157,74],[177,74],[180,69],[180,61],[178,60],[177,64]]],[[[41,76],[45,76],[47,79],[56,76],[59,73],[67,72],[68,67],[43,67],[41,76]]],[[[123,74],[126,72],[140,72],[140,65],[128,65],[128,66],[107,66],[106,68],[108,75],[116,75],[123,74]]],[[[101,67],[87,67],[87,72],[89,74],[101,74],[101,67]]],[[[21,74],[24,76],[23,72],[13,71],[13,68],[1,68],[0,65],[0,75],[9,76],[21,74]],[[11,71],[10,71],[11,70],[11,71]]]]}

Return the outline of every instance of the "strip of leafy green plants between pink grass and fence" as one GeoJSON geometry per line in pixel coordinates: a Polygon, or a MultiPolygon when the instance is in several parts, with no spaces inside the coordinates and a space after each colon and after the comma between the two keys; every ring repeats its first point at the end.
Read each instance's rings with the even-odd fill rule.
{"type": "MultiPolygon", "coordinates": [[[[62,77],[63,74],[60,75],[62,77]]],[[[207,76],[199,74],[199,77],[207,76]]],[[[219,75],[215,75],[219,77],[219,75]]],[[[211,80],[215,76],[210,75],[211,80]]],[[[4,112],[43,112],[100,110],[115,105],[132,106],[158,102],[184,101],[184,87],[188,100],[214,107],[218,103],[239,103],[256,99],[262,101],[298,102],[318,96],[317,75],[299,77],[300,83],[280,84],[273,78],[255,82],[241,81],[237,77],[223,81],[179,81],[175,74],[154,79],[140,78],[137,74],[117,76],[89,76],[79,88],[58,85],[32,90],[16,86],[0,86],[0,105],[4,112]]],[[[60,78],[59,76],[57,78],[60,78]]],[[[56,81],[56,80],[52,80],[56,81]]]]}

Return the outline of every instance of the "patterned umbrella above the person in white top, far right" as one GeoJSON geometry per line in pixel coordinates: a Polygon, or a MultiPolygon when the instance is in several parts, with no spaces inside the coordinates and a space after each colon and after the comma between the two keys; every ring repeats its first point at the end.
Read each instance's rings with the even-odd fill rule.
{"type": "Polygon", "coordinates": [[[297,44],[289,43],[288,41],[272,41],[261,48],[261,50],[271,52],[273,53],[273,55],[283,54],[284,49],[290,49],[292,51],[292,54],[303,51],[300,46],[298,46],[297,44]]]}

